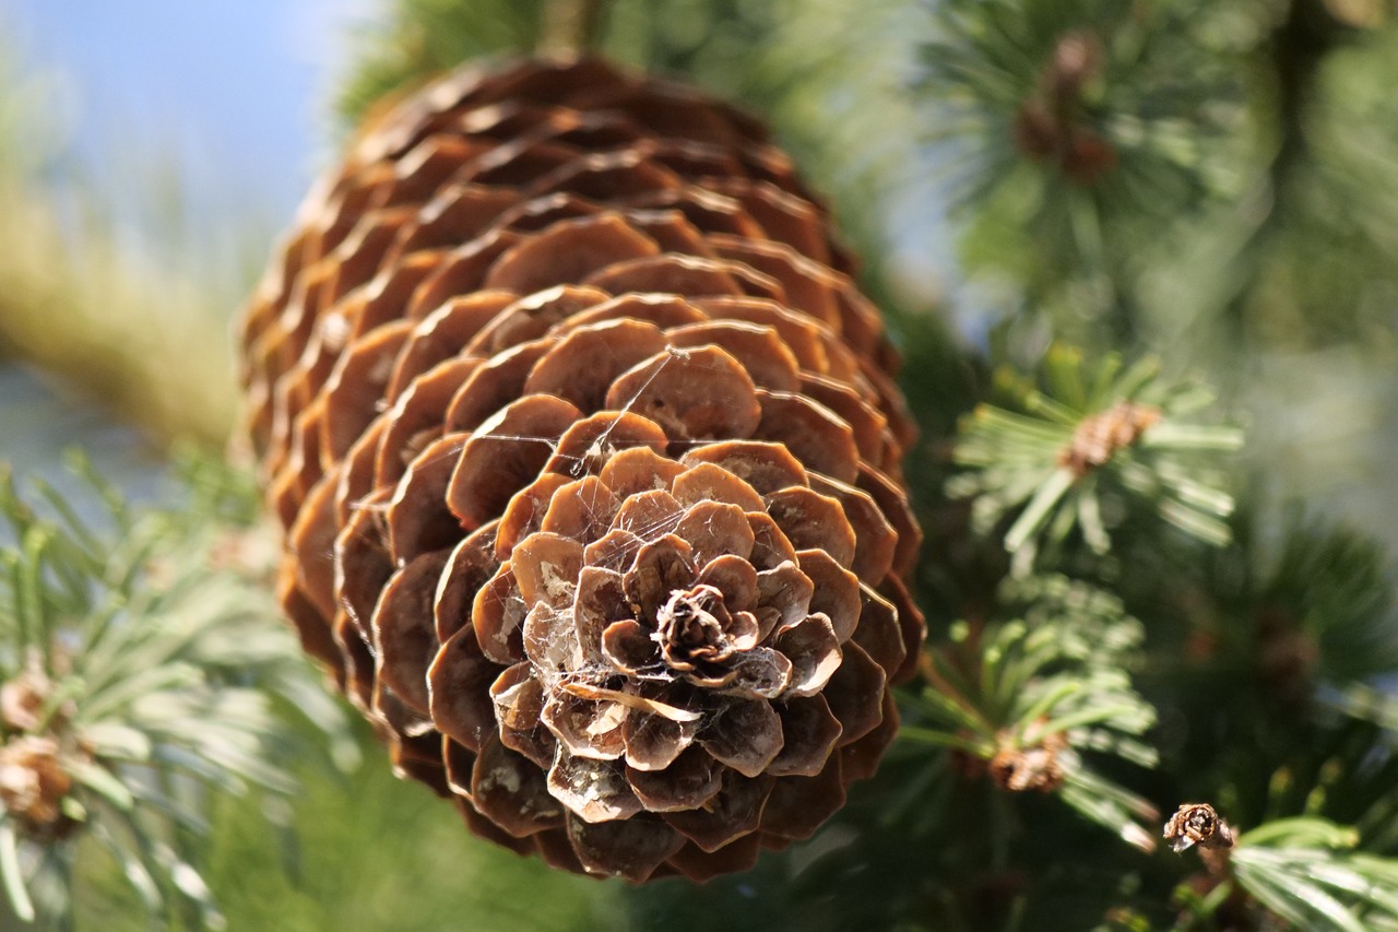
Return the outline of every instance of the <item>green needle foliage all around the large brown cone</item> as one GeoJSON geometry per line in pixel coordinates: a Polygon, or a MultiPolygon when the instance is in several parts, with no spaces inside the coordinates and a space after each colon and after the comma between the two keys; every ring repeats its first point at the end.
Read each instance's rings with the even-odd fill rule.
{"type": "MultiPolygon", "coordinates": [[[[386,0],[337,106],[527,52],[545,6],[386,0]]],[[[931,630],[899,744],[812,841],[747,875],[555,875],[382,771],[274,761],[351,751],[264,585],[210,567],[231,528],[256,533],[229,473],[206,463],[189,502],[152,512],[99,486],[96,529],[62,497],[6,491],[0,670],[45,701],[4,736],[73,764],[55,816],[71,837],[0,820],[15,915],[98,928],[101,900],[171,928],[1398,929],[1398,619],[1371,533],[1391,480],[1362,500],[1369,532],[1332,498],[1283,501],[1328,462],[1288,451],[1383,435],[1373,399],[1398,388],[1398,10],[601,6],[596,49],[773,122],[893,315],[931,630]],[[937,316],[898,273],[935,266],[909,218],[948,210],[959,266],[937,316]],[[1360,367],[1339,388],[1336,360],[1360,367]],[[1166,817],[1204,802],[1230,844],[1170,851],[1166,817]]]]}

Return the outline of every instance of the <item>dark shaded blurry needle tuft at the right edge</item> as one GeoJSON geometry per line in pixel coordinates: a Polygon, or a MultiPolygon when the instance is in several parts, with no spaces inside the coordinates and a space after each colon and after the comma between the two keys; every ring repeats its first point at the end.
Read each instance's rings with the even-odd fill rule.
{"type": "MultiPolygon", "coordinates": [[[[1374,689],[1398,669],[1398,603],[1387,550],[1299,504],[1279,518],[1250,504],[1232,528],[1233,543],[1197,574],[1181,577],[1179,560],[1162,557],[1151,540],[1121,557],[1138,568],[1155,561],[1130,581],[1128,600],[1158,626],[1158,684],[1195,689],[1192,677],[1174,680],[1181,663],[1199,682],[1216,684],[1211,705],[1191,712],[1202,716],[1198,733],[1212,733],[1211,742],[1225,730],[1204,722],[1234,715],[1254,732],[1274,719],[1279,728],[1302,719],[1324,723],[1334,711],[1391,723],[1387,697],[1374,689]],[[1257,701],[1261,718],[1244,711],[1257,701]]],[[[1187,696],[1180,701],[1192,705],[1187,696]]]]}

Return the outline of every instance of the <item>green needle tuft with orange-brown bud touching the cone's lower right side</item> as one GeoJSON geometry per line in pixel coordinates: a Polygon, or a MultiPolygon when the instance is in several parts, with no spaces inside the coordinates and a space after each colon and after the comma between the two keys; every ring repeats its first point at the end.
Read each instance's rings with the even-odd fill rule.
{"type": "Polygon", "coordinates": [[[1023,619],[953,626],[932,645],[928,686],[907,696],[902,737],[951,749],[967,777],[1009,793],[1053,792],[1090,821],[1149,851],[1141,821],[1158,819],[1135,792],[1096,772],[1088,758],[1153,767],[1141,739],[1155,709],[1131,686],[1142,628],[1121,603],[1061,577],[1009,582],[1023,619]]]}

